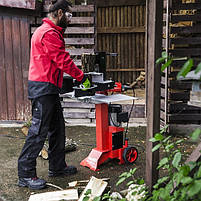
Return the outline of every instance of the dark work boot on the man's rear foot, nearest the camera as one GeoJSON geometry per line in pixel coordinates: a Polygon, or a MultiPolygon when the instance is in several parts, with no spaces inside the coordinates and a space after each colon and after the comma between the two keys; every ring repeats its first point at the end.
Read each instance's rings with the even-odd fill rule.
{"type": "Polygon", "coordinates": [[[40,190],[46,187],[46,181],[43,179],[39,179],[38,177],[34,178],[19,177],[18,186],[28,187],[32,190],[40,190]]]}

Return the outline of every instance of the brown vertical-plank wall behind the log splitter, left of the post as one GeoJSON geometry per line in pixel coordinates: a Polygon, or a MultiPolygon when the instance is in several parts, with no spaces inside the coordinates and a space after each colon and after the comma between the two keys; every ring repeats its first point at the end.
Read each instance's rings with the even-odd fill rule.
{"type": "Polygon", "coordinates": [[[144,71],[145,1],[97,1],[97,50],[107,56],[107,78],[132,83],[144,71]]]}

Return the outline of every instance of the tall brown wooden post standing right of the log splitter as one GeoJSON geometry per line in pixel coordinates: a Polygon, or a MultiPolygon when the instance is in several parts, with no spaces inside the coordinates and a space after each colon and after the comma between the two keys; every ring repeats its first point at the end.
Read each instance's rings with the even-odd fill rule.
{"type": "Polygon", "coordinates": [[[146,184],[150,190],[158,179],[159,151],[152,153],[153,143],[149,139],[160,130],[160,67],[155,65],[162,51],[163,1],[147,1],[146,40],[146,184]]]}

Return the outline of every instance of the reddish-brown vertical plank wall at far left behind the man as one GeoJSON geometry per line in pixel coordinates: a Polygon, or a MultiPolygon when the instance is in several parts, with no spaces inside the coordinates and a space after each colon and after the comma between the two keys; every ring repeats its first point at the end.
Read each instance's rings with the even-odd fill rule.
{"type": "Polygon", "coordinates": [[[25,120],[30,30],[27,16],[0,7],[0,120],[25,120]]]}

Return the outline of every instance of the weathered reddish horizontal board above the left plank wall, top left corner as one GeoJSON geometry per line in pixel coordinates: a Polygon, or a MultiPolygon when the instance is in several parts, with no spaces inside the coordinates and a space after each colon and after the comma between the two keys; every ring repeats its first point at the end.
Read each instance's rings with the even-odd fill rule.
{"type": "Polygon", "coordinates": [[[1,0],[0,6],[35,10],[38,0],[1,0]]]}

